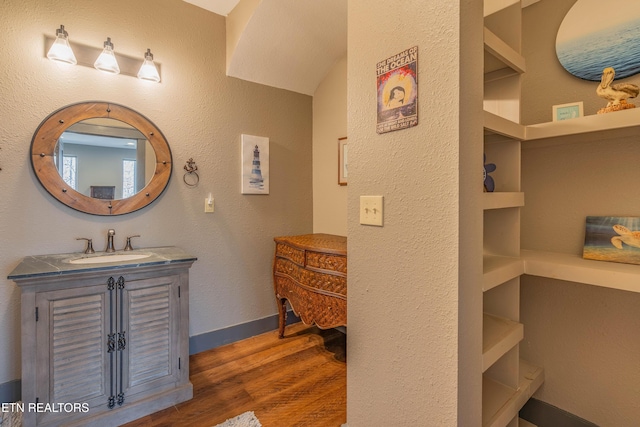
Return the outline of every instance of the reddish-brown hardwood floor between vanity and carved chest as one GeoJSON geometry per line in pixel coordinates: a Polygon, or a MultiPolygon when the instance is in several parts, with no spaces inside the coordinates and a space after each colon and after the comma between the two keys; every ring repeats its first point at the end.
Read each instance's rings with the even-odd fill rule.
{"type": "Polygon", "coordinates": [[[246,411],[263,427],[339,427],[347,419],[346,336],[302,323],[190,357],[194,397],[127,427],[213,427],[246,411]]]}

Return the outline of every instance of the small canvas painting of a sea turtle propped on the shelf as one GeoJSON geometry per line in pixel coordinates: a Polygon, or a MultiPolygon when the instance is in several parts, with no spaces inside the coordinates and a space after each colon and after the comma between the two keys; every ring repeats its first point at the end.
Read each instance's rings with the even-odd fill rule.
{"type": "Polygon", "coordinates": [[[640,217],[588,216],[582,257],[640,264],[640,217]]]}

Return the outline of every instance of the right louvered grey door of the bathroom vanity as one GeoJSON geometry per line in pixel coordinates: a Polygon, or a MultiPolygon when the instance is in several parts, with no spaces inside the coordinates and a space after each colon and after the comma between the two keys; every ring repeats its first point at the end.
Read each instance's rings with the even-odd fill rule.
{"type": "Polygon", "coordinates": [[[126,334],[127,350],[119,360],[122,369],[118,374],[125,401],[170,389],[180,378],[179,277],[125,283],[121,296],[124,323],[120,329],[126,334]]]}

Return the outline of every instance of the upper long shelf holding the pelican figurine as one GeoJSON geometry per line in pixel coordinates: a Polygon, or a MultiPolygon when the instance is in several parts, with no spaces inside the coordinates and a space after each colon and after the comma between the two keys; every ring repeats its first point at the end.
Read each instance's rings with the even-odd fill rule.
{"type": "MultiPolygon", "coordinates": [[[[485,119],[486,120],[486,119],[485,119]]],[[[486,126],[485,126],[486,127],[486,126]]],[[[601,138],[599,132],[628,129],[637,136],[640,128],[640,108],[616,111],[607,114],[595,114],[562,120],[559,122],[540,123],[525,126],[525,141],[540,139],[570,137],[574,135],[591,134],[593,139],[601,138]],[[634,129],[635,128],[635,129],[634,129]]],[[[584,138],[582,138],[584,139],[584,138]]]]}

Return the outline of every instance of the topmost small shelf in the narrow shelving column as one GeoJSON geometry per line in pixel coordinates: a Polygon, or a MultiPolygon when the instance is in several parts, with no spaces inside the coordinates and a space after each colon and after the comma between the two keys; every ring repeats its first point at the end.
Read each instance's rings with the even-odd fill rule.
{"type": "Polygon", "coordinates": [[[525,72],[525,61],[520,53],[502,41],[488,28],[484,28],[485,55],[484,80],[490,82],[525,72]]]}

